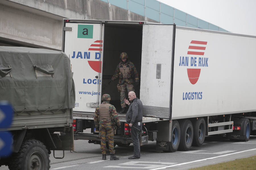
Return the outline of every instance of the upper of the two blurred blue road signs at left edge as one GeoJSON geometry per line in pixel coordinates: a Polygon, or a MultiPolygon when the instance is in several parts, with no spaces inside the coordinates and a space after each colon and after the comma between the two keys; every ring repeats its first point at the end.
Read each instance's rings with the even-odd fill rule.
{"type": "Polygon", "coordinates": [[[0,128],[8,128],[13,121],[13,108],[7,101],[0,101],[0,128]]]}

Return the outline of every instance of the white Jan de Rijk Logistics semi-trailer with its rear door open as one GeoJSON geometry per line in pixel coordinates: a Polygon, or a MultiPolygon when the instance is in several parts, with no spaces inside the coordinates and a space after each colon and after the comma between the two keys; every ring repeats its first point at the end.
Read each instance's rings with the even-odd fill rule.
{"type": "MultiPolygon", "coordinates": [[[[121,109],[117,80],[108,85],[121,52],[140,76],[141,145],[156,140],[157,149],[175,152],[202,145],[206,135],[256,135],[255,36],[139,21],[65,19],[63,30],[76,86],[75,139],[100,143],[93,115],[102,94],[121,109]]],[[[114,140],[127,146],[129,127],[119,118],[114,140]]]]}

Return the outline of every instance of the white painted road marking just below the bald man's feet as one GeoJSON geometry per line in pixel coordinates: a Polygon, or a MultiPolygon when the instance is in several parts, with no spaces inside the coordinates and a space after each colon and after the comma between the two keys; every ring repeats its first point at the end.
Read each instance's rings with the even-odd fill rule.
{"type": "Polygon", "coordinates": [[[152,168],[158,168],[163,167],[166,165],[173,165],[175,163],[173,162],[145,162],[145,161],[130,161],[125,163],[120,163],[118,165],[130,165],[130,166],[118,166],[118,165],[110,165],[106,166],[104,168],[136,168],[136,169],[152,169],[152,168]],[[156,165],[157,164],[157,165],[156,165]],[[131,167],[133,166],[133,167],[131,167]],[[144,167],[140,167],[144,166],[144,167]]]}

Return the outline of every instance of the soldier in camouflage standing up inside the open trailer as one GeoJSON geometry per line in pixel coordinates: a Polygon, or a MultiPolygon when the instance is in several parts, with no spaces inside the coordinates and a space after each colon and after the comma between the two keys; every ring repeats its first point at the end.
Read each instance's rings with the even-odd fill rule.
{"type": "Polygon", "coordinates": [[[110,84],[113,80],[119,78],[119,82],[117,84],[117,86],[121,86],[120,89],[120,101],[121,101],[121,107],[122,110],[120,112],[120,114],[125,113],[125,88],[127,89],[127,92],[131,92],[131,91],[135,91],[134,87],[133,87],[133,78],[135,79],[135,85],[138,86],[139,85],[139,75],[137,72],[136,67],[134,66],[134,64],[128,60],[128,55],[126,52],[122,52],[120,55],[121,61],[120,63],[117,65],[116,69],[115,69],[115,73],[112,76],[110,82],[108,84],[110,84]]]}

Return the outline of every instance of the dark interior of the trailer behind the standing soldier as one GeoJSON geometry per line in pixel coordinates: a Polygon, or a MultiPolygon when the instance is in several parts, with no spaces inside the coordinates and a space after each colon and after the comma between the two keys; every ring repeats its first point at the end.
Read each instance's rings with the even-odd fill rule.
{"type": "MultiPolygon", "coordinates": [[[[142,25],[139,24],[105,24],[102,70],[102,95],[110,94],[111,101],[117,110],[121,109],[120,92],[117,90],[118,79],[111,80],[118,63],[121,61],[120,54],[126,52],[128,59],[134,63],[139,78],[141,75],[141,46],[142,46],[142,25]]],[[[139,86],[135,86],[135,93],[139,98],[139,86]]],[[[128,98],[126,90],[126,98],[128,98]]]]}

